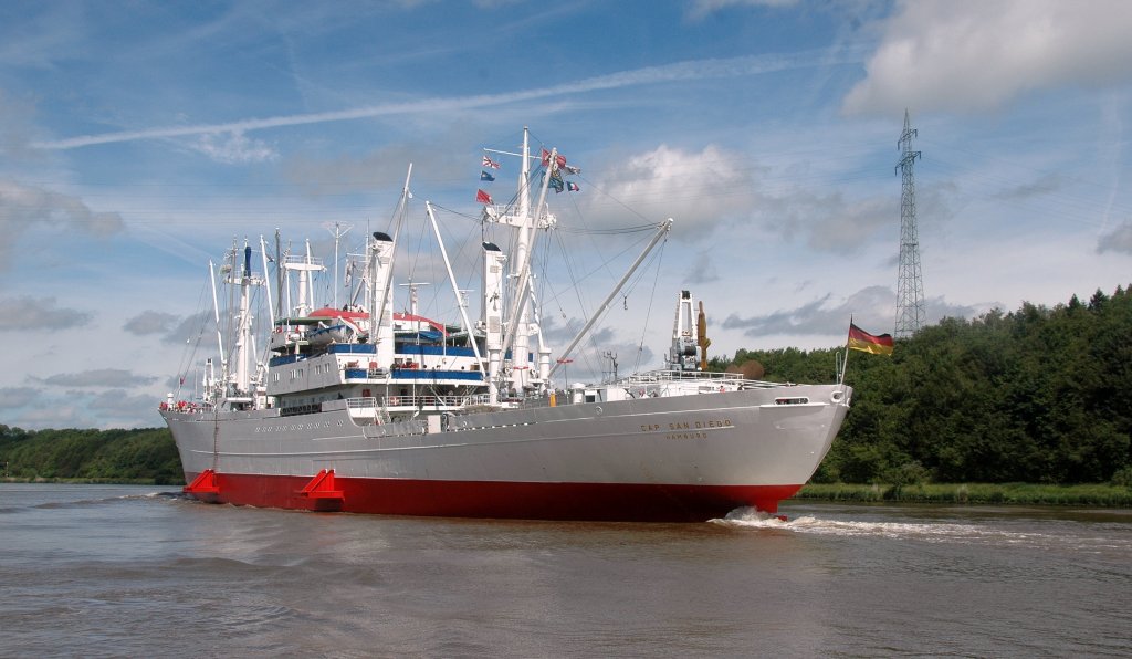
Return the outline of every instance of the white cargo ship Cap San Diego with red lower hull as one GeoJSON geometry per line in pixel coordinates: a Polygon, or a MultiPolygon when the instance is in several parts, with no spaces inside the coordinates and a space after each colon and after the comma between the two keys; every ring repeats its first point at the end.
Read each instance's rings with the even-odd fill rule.
{"type": "Polygon", "coordinates": [[[415,290],[394,310],[411,165],[389,230],[367,237],[345,305],[315,303],[314,279],[326,268],[309,247],[284,253],[276,239],[268,258],[260,238],[258,259],[246,242],[220,267],[209,264],[221,357],[199,377],[182,374],[195,393],[160,403],[188,495],[387,515],[705,521],[741,507],[775,513],[801,488],[844,419],[851,387],[839,377],[782,384],[710,373],[702,307],[697,314],[689,291],[676,296],[661,368],[565,380],[573,351],[672,220],[650,229],[648,246],[555,356],[541,331],[532,254],[557,224],[548,190],[577,170],[556,149],[532,156],[525,129],[509,155],[518,161],[514,198],[478,195],[480,222],[509,236],[499,240],[507,250],[478,246],[474,323],[428,203],[458,317],[421,315],[415,290]],[[251,310],[265,298],[267,323],[251,310]]]}

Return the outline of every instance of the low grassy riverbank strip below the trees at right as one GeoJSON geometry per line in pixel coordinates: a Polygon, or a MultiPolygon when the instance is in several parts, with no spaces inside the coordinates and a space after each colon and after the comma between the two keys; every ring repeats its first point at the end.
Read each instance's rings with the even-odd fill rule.
{"type": "Polygon", "coordinates": [[[920,485],[809,483],[795,499],[858,503],[994,504],[1132,507],[1132,488],[1108,483],[968,482],[920,485]]]}

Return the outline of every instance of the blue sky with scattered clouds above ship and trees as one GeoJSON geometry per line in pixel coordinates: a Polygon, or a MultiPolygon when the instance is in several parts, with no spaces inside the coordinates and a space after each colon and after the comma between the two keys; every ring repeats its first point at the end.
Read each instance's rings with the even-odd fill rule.
{"type": "Polygon", "coordinates": [[[714,356],[837,346],[850,316],[893,332],[906,111],[928,323],[1110,293],[1132,282],[1130,33],[1122,0],[8,0],[0,423],[161,425],[215,353],[209,259],[247,239],[261,269],[278,229],[341,274],[409,163],[396,307],[412,280],[454,320],[429,200],[475,316],[479,242],[501,240],[475,190],[511,196],[523,127],[582,170],[539,238],[552,345],[649,239],[619,230],[675,221],[571,380],[601,352],[659,367],[681,289],[714,356]]]}

